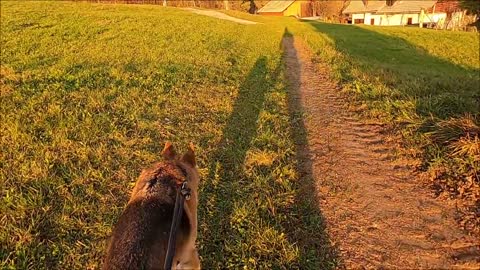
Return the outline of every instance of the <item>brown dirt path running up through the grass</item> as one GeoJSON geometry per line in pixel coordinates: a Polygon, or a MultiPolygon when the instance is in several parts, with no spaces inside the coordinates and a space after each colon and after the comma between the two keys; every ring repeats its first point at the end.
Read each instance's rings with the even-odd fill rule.
{"type": "Polygon", "coordinates": [[[343,266],[479,269],[480,241],[458,229],[454,207],[434,199],[406,163],[391,160],[382,126],[344,109],[328,69],[311,62],[301,41],[283,43],[290,103],[303,111],[307,133],[300,157],[311,166],[343,266]]]}

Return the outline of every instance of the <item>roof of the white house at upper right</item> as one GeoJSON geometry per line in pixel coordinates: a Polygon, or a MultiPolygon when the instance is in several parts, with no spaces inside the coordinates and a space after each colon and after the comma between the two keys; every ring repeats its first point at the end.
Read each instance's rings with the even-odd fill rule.
{"type": "Polygon", "coordinates": [[[350,5],[343,11],[344,14],[351,13],[408,13],[428,10],[437,3],[436,0],[400,0],[395,1],[392,6],[387,6],[386,1],[358,1],[352,0],[350,5]]]}

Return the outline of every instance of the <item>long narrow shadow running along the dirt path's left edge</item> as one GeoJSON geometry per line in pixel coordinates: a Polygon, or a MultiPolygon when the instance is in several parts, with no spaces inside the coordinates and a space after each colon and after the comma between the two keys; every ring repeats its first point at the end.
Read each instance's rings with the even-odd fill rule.
{"type": "Polygon", "coordinates": [[[340,266],[338,251],[331,245],[326,231],[325,217],[319,203],[319,193],[313,174],[313,160],[305,127],[305,108],[301,99],[301,63],[294,46],[294,37],[285,28],[283,43],[286,77],[288,80],[288,111],[291,137],[295,144],[297,181],[297,212],[302,215],[290,226],[296,228],[291,235],[298,243],[302,264],[315,261],[315,269],[334,269],[340,266]]]}

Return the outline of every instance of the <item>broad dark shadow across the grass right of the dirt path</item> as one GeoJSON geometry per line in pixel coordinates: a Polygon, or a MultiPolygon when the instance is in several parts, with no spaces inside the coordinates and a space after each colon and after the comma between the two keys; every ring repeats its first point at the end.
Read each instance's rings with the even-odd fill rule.
{"type": "MultiPolygon", "coordinates": [[[[363,99],[372,102],[391,99],[394,100],[393,107],[396,106],[396,100],[415,100],[416,112],[420,116],[439,119],[479,112],[480,70],[456,65],[430,55],[403,38],[364,27],[317,22],[309,24],[330,37],[336,48],[346,53],[348,60],[368,77],[379,79],[384,85],[395,89],[385,93],[366,85],[360,91],[363,99]]],[[[412,31],[411,34],[419,33],[412,31]]],[[[341,72],[342,78],[352,79],[348,67],[341,72]]]]}

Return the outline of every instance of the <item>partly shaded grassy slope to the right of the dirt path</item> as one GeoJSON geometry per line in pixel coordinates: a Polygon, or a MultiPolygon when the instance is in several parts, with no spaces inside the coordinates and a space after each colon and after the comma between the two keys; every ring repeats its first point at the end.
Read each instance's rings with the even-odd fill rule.
{"type": "Polygon", "coordinates": [[[462,224],[480,232],[478,35],[315,22],[292,29],[330,63],[367,118],[401,136],[438,192],[463,201],[462,224]]]}

